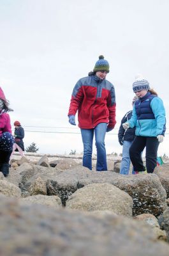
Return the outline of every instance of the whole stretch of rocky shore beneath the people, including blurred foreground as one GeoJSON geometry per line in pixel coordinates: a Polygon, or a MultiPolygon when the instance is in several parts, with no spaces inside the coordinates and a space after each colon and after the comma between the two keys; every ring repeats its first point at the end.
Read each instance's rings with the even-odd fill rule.
{"type": "Polygon", "coordinates": [[[0,173],[0,254],[167,256],[169,164],[119,175],[120,159],[108,158],[107,172],[81,161],[13,156],[10,175],[0,173]]]}

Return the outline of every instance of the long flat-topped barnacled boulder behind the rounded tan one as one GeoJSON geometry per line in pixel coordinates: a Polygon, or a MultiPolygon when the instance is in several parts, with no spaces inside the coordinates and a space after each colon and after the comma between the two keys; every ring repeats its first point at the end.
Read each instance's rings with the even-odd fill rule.
{"type": "Polygon", "coordinates": [[[158,216],[165,211],[166,191],[156,174],[120,175],[115,172],[90,171],[83,166],[69,170],[56,170],[34,166],[30,179],[20,186],[22,194],[33,195],[32,185],[40,177],[47,186],[47,195],[57,195],[62,204],[77,189],[92,183],[108,183],[120,188],[133,198],[133,215],[151,213],[158,216]]]}

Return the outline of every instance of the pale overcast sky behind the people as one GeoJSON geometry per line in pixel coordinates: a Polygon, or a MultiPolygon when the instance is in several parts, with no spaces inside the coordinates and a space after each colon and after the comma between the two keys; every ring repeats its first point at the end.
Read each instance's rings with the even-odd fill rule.
{"type": "MultiPolygon", "coordinates": [[[[115,134],[131,109],[136,74],[163,99],[168,120],[168,12],[168,0],[0,0],[0,86],[14,109],[12,128],[19,120],[26,130],[25,146],[34,141],[41,153],[83,151],[68,108],[75,83],[100,54],[110,63],[107,79],[117,102],[117,124],[105,140],[108,154],[121,153],[115,134]]],[[[168,133],[159,155],[169,156],[168,133]]]]}

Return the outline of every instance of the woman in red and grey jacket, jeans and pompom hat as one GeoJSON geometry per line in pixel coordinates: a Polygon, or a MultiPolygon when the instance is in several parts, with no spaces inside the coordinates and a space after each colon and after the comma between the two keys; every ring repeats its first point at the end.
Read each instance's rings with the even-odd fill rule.
{"type": "Polygon", "coordinates": [[[83,166],[92,170],[92,141],[96,140],[97,171],[107,170],[105,150],[105,134],[112,131],[115,121],[114,85],[105,78],[109,72],[109,64],[99,56],[94,70],[87,77],[78,80],[71,95],[69,122],[75,124],[78,111],[78,127],[84,144],[83,166]]]}

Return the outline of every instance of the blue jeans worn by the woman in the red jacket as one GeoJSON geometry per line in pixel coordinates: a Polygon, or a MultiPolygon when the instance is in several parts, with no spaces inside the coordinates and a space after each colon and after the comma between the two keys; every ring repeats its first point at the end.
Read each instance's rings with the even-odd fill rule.
{"type": "Polygon", "coordinates": [[[81,129],[82,141],[84,143],[83,166],[92,170],[92,141],[96,140],[97,149],[97,171],[107,171],[107,153],[105,149],[105,134],[107,123],[100,123],[94,129],[81,129]]]}

